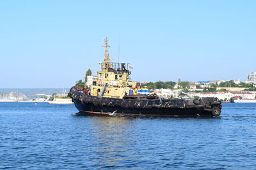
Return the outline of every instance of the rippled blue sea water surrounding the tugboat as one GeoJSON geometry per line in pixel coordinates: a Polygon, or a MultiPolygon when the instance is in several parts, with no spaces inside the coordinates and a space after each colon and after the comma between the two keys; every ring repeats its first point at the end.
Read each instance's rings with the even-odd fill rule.
{"type": "Polygon", "coordinates": [[[0,103],[0,169],[256,169],[256,104],[223,103],[220,118],[76,113],[0,103]]]}

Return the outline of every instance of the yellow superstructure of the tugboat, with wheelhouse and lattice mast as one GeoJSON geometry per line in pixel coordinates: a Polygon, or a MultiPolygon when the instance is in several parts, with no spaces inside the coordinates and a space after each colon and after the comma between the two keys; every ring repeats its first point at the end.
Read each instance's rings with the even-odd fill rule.
{"type": "Polygon", "coordinates": [[[104,62],[100,63],[101,69],[97,72],[97,83],[91,86],[91,95],[99,96],[106,86],[104,97],[123,98],[129,90],[136,88],[136,81],[129,81],[128,64],[110,62],[108,38],[104,39],[104,62]]]}

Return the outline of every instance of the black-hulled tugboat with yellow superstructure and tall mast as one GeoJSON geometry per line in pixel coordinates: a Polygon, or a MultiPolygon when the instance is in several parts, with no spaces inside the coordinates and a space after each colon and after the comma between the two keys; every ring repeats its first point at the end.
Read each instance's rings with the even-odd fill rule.
{"type": "Polygon", "coordinates": [[[72,87],[68,96],[85,115],[148,117],[219,117],[221,101],[214,97],[199,99],[162,99],[130,81],[129,64],[110,62],[108,38],[104,39],[104,62],[97,80],[90,87],[72,87]]]}

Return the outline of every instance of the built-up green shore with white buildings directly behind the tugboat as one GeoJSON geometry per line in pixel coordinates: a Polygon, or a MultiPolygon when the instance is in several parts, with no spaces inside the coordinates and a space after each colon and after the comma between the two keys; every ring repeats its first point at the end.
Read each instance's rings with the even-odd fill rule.
{"type": "MultiPolygon", "coordinates": [[[[85,85],[96,84],[97,76],[86,76],[85,85]]],[[[163,98],[175,97],[218,97],[221,101],[230,101],[232,98],[255,99],[256,97],[256,72],[248,73],[246,81],[236,80],[209,80],[209,81],[157,81],[140,82],[142,87],[147,87],[152,93],[163,98]]]]}

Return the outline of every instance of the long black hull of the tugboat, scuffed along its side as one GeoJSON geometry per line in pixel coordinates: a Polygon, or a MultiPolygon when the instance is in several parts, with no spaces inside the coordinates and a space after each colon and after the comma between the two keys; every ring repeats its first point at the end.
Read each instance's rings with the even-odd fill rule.
{"type": "Polygon", "coordinates": [[[70,89],[69,96],[72,97],[77,110],[84,115],[212,117],[214,116],[213,108],[221,109],[220,102],[214,101],[215,98],[212,99],[211,97],[205,98],[200,104],[194,104],[193,100],[185,101],[184,99],[141,101],[136,99],[99,98],[87,96],[74,89],[70,89]]]}

